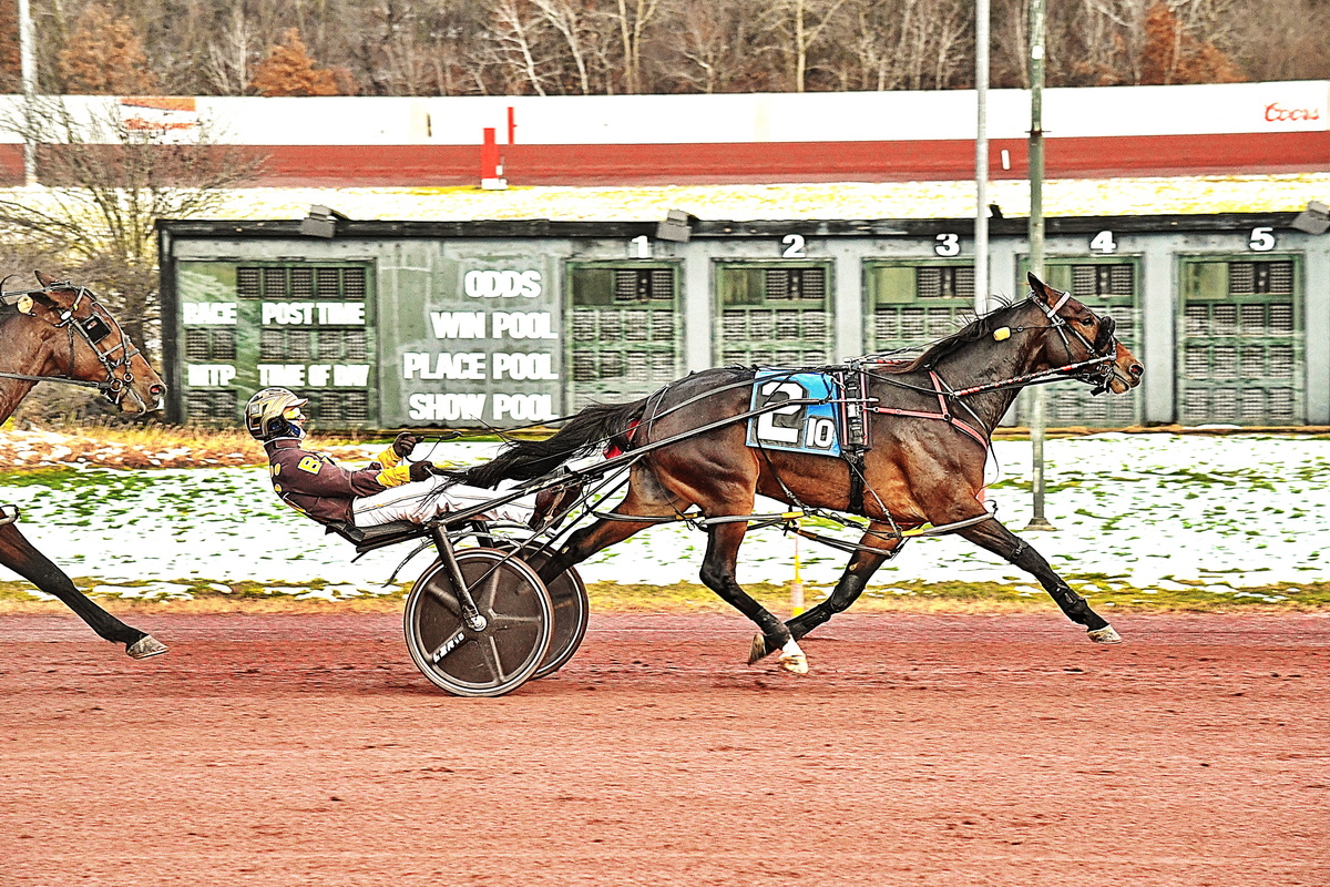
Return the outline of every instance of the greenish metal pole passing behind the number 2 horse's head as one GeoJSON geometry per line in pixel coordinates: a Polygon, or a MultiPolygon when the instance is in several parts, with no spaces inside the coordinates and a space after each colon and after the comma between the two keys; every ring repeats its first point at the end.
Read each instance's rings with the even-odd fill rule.
{"type": "MultiPolygon", "coordinates": [[[[1044,279],[1044,0],[1029,0],[1029,270],[1044,279]]],[[[1029,388],[1033,515],[1025,529],[1055,529],[1044,516],[1044,386],[1029,388]]]]}

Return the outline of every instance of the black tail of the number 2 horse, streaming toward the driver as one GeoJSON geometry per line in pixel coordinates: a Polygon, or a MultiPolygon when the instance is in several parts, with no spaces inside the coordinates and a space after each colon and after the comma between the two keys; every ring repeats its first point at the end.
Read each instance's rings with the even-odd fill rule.
{"type": "Polygon", "coordinates": [[[493,487],[500,480],[548,475],[569,459],[588,456],[610,443],[626,449],[630,424],[642,418],[648,400],[592,404],[545,440],[519,440],[481,465],[450,473],[472,487],[493,487]]]}

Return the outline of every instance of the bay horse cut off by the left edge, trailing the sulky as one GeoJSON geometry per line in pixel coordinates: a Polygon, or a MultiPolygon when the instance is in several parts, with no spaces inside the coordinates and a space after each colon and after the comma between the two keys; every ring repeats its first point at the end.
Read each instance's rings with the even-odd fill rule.
{"type": "MultiPolygon", "coordinates": [[[[97,388],[121,411],[161,407],[166,386],[93,294],[37,271],[36,290],[0,293],[0,423],[39,382],[97,388]]],[[[136,660],[166,646],[85,597],[19,529],[19,509],[0,505],[0,565],[60,598],[102,638],[136,660]]]]}

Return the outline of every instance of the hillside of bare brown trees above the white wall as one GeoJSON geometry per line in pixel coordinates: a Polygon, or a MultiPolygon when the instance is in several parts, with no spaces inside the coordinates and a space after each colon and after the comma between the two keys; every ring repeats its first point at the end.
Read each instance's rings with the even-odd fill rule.
{"type": "MultiPolygon", "coordinates": [[[[32,0],[40,89],[587,94],[963,89],[971,0],[32,0]]],[[[1330,78],[1327,0],[1048,4],[1053,86],[1330,78]]],[[[1025,0],[992,0],[992,84],[1025,0]]],[[[17,92],[16,1],[0,89],[17,92]]]]}

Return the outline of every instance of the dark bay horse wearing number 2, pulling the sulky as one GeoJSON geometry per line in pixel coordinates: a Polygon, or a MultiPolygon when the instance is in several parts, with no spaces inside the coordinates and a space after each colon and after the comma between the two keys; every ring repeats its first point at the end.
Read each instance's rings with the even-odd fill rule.
{"type": "Polygon", "coordinates": [[[862,467],[826,455],[747,445],[745,420],[704,430],[750,410],[757,370],[729,367],[696,372],[633,403],[588,407],[552,438],[511,444],[493,460],[455,476],[492,487],[504,479],[539,477],[606,442],[630,453],[634,447],[685,435],[634,461],[614,519],[572,533],[544,563],[541,578],[692,507],[706,519],[751,515],[757,493],[797,508],[866,519],[864,535],[858,545],[847,547],[853,555],[831,594],[789,622],[735,581],[747,521],[706,524],[701,580],[757,624],[761,633],[753,641],[750,664],[781,650],[783,668],[806,673],[798,638],[847,609],[904,541],[902,532],[924,524],[951,525],[1031,573],[1092,641],[1115,644],[1121,637],[1112,625],[982,503],[992,431],[1023,387],[1075,378],[1095,384],[1096,391],[1123,394],[1138,386],[1144,374],[1117,340],[1112,318],[1096,315],[1035,275],[1029,286],[1024,301],[976,318],[914,359],[851,364],[867,383],[862,404],[871,449],[862,467]]]}

